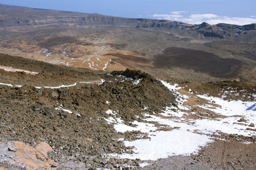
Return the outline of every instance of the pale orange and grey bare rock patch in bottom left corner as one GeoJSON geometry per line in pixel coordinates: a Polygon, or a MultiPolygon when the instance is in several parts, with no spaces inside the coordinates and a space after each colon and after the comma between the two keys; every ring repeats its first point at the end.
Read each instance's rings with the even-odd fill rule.
{"type": "Polygon", "coordinates": [[[9,141],[2,143],[0,150],[3,153],[0,162],[6,162],[14,167],[26,169],[58,167],[55,161],[48,158],[47,154],[53,152],[53,148],[45,142],[38,143],[37,146],[33,147],[20,141],[9,141]]]}

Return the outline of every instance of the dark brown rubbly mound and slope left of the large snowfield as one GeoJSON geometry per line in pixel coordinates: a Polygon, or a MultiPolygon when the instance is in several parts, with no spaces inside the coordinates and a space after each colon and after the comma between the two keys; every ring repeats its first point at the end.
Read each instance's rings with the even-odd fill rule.
{"type": "Polygon", "coordinates": [[[116,71],[108,75],[30,59],[5,57],[8,59],[4,59],[2,55],[4,62],[1,65],[8,65],[9,61],[12,66],[16,64],[16,68],[45,72],[28,75],[0,71],[0,82],[24,85],[21,88],[0,85],[1,143],[21,141],[30,146],[41,142],[48,143],[54,150],[50,158],[68,169],[77,167],[74,163],[78,162],[82,167],[95,168],[102,167],[102,163],[113,167],[127,161],[108,161],[100,156],[104,153],[124,152],[126,148],[123,142],[117,139],[129,137],[128,133],[116,133],[113,125],[106,123],[104,118],[109,116],[106,110],[115,110],[117,117],[129,124],[134,120],[142,121],[137,116],[143,117],[141,112],[144,107],[148,107],[147,112],[153,113],[175,103],[173,93],[160,81],[140,71],[116,71]],[[143,79],[139,84],[133,84],[125,76],[135,80],[143,79]],[[82,78],[103,78],[105,82],[77,84],[58,89],[33,87],[60,86],[70,84],[71,81],[79,82],[82,78]],[[56,110],[56,107],[71,110],[73,113],[56,110]],[[77,113],[81,116],[77,116],[77,113]]]}

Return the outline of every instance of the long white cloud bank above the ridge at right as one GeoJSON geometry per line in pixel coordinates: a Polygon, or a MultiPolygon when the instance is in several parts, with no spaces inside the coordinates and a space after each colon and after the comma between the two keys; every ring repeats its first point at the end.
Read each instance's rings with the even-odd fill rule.
{"type": "Polygon", "coordinates": [[[154,14],[153,18],[160,20],[172,20],[178,22],[184,22],[187,24],[201,24],[202,22],[207,22],[209,24],[236,24],[236,25],[246,25],[256,23],[256,16],[249,17],[230,17],[230,16],[219,16],[216,14],[188,14],[187,11],[172,11],[170,14],[154,14]]]}

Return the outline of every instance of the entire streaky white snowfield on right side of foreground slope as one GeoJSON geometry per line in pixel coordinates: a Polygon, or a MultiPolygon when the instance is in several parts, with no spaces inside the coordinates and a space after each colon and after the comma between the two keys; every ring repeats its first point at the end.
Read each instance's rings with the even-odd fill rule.
{"type": "MultiPolygon", "coordinates": [[[[158,160],[159,158],[167,158],[168,156],[175,155],[189,155],[198,152],[202,146],[206,146],[208,143],[213,142],[213,133],[228,133],[244,136],[255,136],[255,131],[246,130],[250,123],[256,124],[256,104],[255,102],[242,102],[242,101],[224,101],[217,97],[207,97],[206,95],[198,95],[209,101],[215,101],[215,104],[220,107],[213,107],[212,105],[198,105],[205,109],[216,112],[223,115],[223,118],[209,118],[204,119],[188,119],[182,118],[183,114],[181,109],[190,110],[190,107],[182,105],[189,97],[182,95],[177,90],[177,84],[171,85],[167,82],[161,81],[169,90],[179,95],[178,107],[166,107],[161,113],[161,117],[158,115],[145,114],[144,120],[148,122],[158,122],[158,124],[164,125],[163,127],[173,127],[171,131],[158,131],[154,124],[146,122],[132,122],[134,126],[128,126],[124,124],[121,118],[110,117],[106,119],[108,124],[114,124],[114,128],[118,132],[125,131],[141,131],[148,133],[148,137],[151,139],[137,139],[135,141],[123,141],[125,146],[135,146],[133,151],[135,154],[123,154],[121,158],[140,160],[158,160]],[[177,109],[177,110],[173,110],[177,109]],[[236,115],[236,116],[235,116],[236,115]],[[166,117],[165,117],[166,116],[166,117]],[[238,120],[245,118],[247,122],[245,126],[239,125],[238,120]],[[234,124],[235,123],[235,124],[234,124]]],[[[194,112],[190,111],[194,114],[194,112]]],[[[195,113],[196,114],[196,113],[195,113]]],[[[255,128],[254,128],[255,129],[255,128]]]]}

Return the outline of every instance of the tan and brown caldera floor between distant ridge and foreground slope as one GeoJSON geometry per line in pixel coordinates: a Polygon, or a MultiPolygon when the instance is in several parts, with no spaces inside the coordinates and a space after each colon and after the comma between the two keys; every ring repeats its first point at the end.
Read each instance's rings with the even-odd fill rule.
{"type": "Polygon", "coordinates": [[[12,27],[8,30],[0,31],[3,37],[0,41],[0,50],[3,53],[56,65],[104,71],[140,69],[160,78],[182,77],[201,82],[236,78],[250,82],[256,80],[255,61],[251,58],[254,52],[253,44],[235,42],[235,48],[229,48],[234,44],[230,42],[231,44],[223,45],[224,47],[221,48],[223,43],[219,41],[213,44],[196,43],[169,32],[128,27],[37,25],[12,27]],[[166,56],[161,54],[163,50],[175,48],[173,46],[182,47],[184,52],[179,52],[179,55],[186,56],[177,57],[175,61],[171,60],[173,61],[171,64],[168,57],[164,57],[167,60],[154,59],[154,61],[159,60],[156,63],[160,63],[154,67],[152,65],[154,56],[166,56]],[[200,55],[198,61],[197,58],[187,59],[191,56],[188,48],[194,49],[193,54],[200,55]],[[137,54],[126,53],[134,51],[137,54]],[[106,54],[114,54],[114,56],[106,56],[106,54]],[[203,55],[207,58],[202,58],[203,55]],[[220,59],[218,56],[227,59],[220,59]],[[110,59],[112,59],[111,63],[110,59]],[[145,61],[137,61],[137,59],[145,61]],[[215,61],[217,63],[210,63],[215,61]]]}

